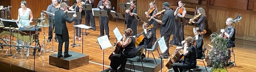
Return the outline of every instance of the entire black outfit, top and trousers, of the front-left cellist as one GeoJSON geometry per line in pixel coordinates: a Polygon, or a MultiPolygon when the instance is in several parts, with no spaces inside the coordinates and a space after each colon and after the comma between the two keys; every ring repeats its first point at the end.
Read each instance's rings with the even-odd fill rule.
{"type": "Polygon", "coordinates": [[[110,62],[110,67],[114,70],[117,70],[118,66],[121,64],[121,67],[125,67],[126,62],[125,59],[127,58],[132,58],[136,56],[136,47],[135,47],[135,38],[130,37],[132,39],[131,43],[127,45],[124,48],[124,52],[121,54],[114,54],[111,62],[110,62]]]}

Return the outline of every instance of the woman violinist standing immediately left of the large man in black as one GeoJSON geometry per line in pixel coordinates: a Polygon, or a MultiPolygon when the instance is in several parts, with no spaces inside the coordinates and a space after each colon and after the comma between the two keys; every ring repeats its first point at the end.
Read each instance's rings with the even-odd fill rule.
{"type": "MultiPolygon", "coordinates": [[[[154,16],[156,13],[157,13],[157,9],[155,7],[155,4],[153,4],[153,2],[150,2],[149,3],[149,7],[150,7],[150,10],[149,12],[145,12],[145,15],[150,18],[151,16],[154,16]],[[150,12],[151,11],[151,12],[150,12]]],[[[153,44],[156,42],[156,28],[157,28],[157,22],[153,19],[151,19],[148,24],[153,24],[154,27],[151,28],[151,30],[153,31],[154,33],[154,37],[153,37],[153,44]]]]}

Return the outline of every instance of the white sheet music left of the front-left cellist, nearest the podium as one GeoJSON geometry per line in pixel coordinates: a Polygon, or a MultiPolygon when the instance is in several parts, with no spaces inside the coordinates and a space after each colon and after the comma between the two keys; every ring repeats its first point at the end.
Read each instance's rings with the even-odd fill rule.
{"type": "Polygon", "coordinates": [[[99,42],[99,44],[101,46],[101,50],[104,50],[104,49],[112,46],[111,43],[108,40],[108,35],[104,35],[102,37],[98,37],[97,40],[98,40],[98,42],[99,42]]]}

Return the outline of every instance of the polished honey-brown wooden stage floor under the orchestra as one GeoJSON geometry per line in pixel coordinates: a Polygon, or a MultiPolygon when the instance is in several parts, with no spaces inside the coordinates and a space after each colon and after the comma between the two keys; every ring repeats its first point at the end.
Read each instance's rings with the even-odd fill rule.
{"type": "MultiPolygon", "coordinates": [[[[114,18],[110,18],[109,19],[109,35],[110,35],[110,43],[113,44],[116,42],[116,38],[115,35],[113,33],[114,28],[116,27],[116,19],[114,18]]],[[[121,33],[123,33],[124,30],[124,20],[119,20],[118,19],[118,28],[119,31],[121,33]]],[[[49,65],[49,55],[51,55],[48,51],[46,51],[45,54],[41,55],[40,57],[36,56],[36,60],[35,60],[35,71],[37,72],[99,72],[102,71],[103,66],[103,50],[100,50],[100,47],[98,45],[98,43],[96,43],[97,41],[97,36],[100,35],[100,30],[99,30],[99,19],[98,17],[95,17],[95,23],[96,23],[96,31],[93,30],[87,30],[87,33],[90,33],[89,36],[84,35],[84,54],[87,54],[90,56],[90,63],[72,70],[65,70],[62,68],[58,68],[52,65],[49,65]]],[[[35,24],[35,23],[33,23],[35,24]]],[[[31,24],[31,25],[33,25],[31,24]]],[[[85,24],[85,18],[83,17],[83,21],[82,24],[85,24]]],[[[142,31],[142,24],[139,24],[139,32],[140,33],[142,31]]],[[[69,30],[69,45],[73,44],[74,39],[73,39],[73,23],[69,24],[67,23],[68,26],[68,30],[69,30]]],[[[46,40],[48,38],[48,27],[45,28],[45,33],[46,33],[46,40]]],[[[191,28],[190,28],[191,29],[191,28]]],[[[160,37],[160,25],[157,26],[157,38],[160,37]]],[[[186,30],[185,31],[191,31],[192,30],[186,30]]],[[[84,30],[85,32],[85,30],[84,30]]],[[[2,36],[3,37],[3,36],[2,36]]],[[[187,35],[185,34],[185,37],[187,37],[187,35]]],[[[40,45],[42,45],[42,40],[44,39],[43,37],[43,32],[40,33],[40,45]]],[[[170,38],[170,40],[172,39],[172,36],[170,38]]],[[[16,40],[14,40],[16,41],[16,40]]],[[[52,40],[53,41],[53,40],[52,40]]],[[[55,40],[54,40],[55,41],[55,40]]],[[[209,43],[209,34],[207,34],[207,36],[204,37],[204,44],[208,44],[209,43]]],[[[47,44],[47,41],[45,41],[47,44]]],[[[76,44],[80,44],[82,46],[82,41],[78,41],[78,39],[75,40],[76,44]]],[[[55,54],[57,52],[57,45],[58,43],[53,42],[54,47],[56,48],[54,51],[52,52],[53,54],[55,54]]],[[[76,52],[80,52],[82,53],[82,47],[74,47],[71,48],[71,46],[69,46],[69,50],[71,51],[76,51],[76,52]]],[[[51,47],[50,45],[47,45],[46,47],[51,47]]],[[[207,46],[209,47],[209,46],[207,46]]],[[[236,66],[233,66],[231,69],[229,67],[227,67],[227,70],[229,72],[255,72],[256,71],[256,56],[254,56],[254,53],[256,53],[256,42],[250,42],[250,41],[245,41],[245,40],[240,40],[240,39],[236,39],[236,47],[234,49],[235,52],[235,61],[236,61],[236,66]]],[[[174,49],[176,48],[176,46],[173,46],[169,49],[170,54],[174,51],[174,49]]],[[[0,69],[1,72],[24,72],[24,71],[32,71],[34,70],[33,67],[33,55],[30,55],[28,57],[28,59],[24,56],[24,52],[23,54],[18,54],[15,51],[14,54],[15,55],[19,55],[18,57],[4,57],[4,55],[6,55],[6,51],[7,49],[9,49],[9,47],[4,47],[3,50],[0,50],[0,69]],[[22,55],[22,56],[21,56],[22,55]],[[2,71],[3,70],[3,71],[2,71]]],[[[109,48],[107,48],[108,50],[109,48]]],[[[110,61],[108,60],[108,56],[110,55],[111,51],[107,52],[107,50],[105,50],[105,54],[104,54],[104,69],[109,68],[109,64],[110,61]]],[[[7,54],[9,54],[9,51],[7,52],[7,54]]],[[[64,51],[64,46],[63,46],[63,51],[64,51]]],[[[38,55],[38,52],[37,54],[38,55]]],[[[157,52],[154,52],[154,55],[156,57],[158,57],[157,52]]],[[[152,57],[152,54],[149,54],[149,57],[152,57]]],[[[233,58],[232,58],[233,60],[233,58]]],[[[164,65],[167,63],[166,59],[164,59],[164,65]]],[[[197,62],[198,65],[203,66],[202,62],[197,62]]],[[[206,62],[205,62],[206,64],[206,62]]],[[[164,68],[162,69],[163,72],[168,72],[168,69],[164,66],[164,68]]],[[[161,71],[159,71],[161,72],[161,71]]]]}

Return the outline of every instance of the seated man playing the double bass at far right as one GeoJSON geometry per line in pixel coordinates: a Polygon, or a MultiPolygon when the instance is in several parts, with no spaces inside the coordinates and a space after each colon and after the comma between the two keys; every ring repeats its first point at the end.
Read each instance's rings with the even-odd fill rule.
{"type": "MultiPolygon", "coordinates": [[[[232,20],[233,20],[233,18],[227,18],[226,25],[232,24],[232,20]]],[[[220,32],[224,33],[226,38],[229,38],[228,48],[235,47],[235,28],[231,25],[226,30],[221,29],[220,32]]],[[[220,34],[220,35],[222,35],[222,34],[220,34]]]]}

